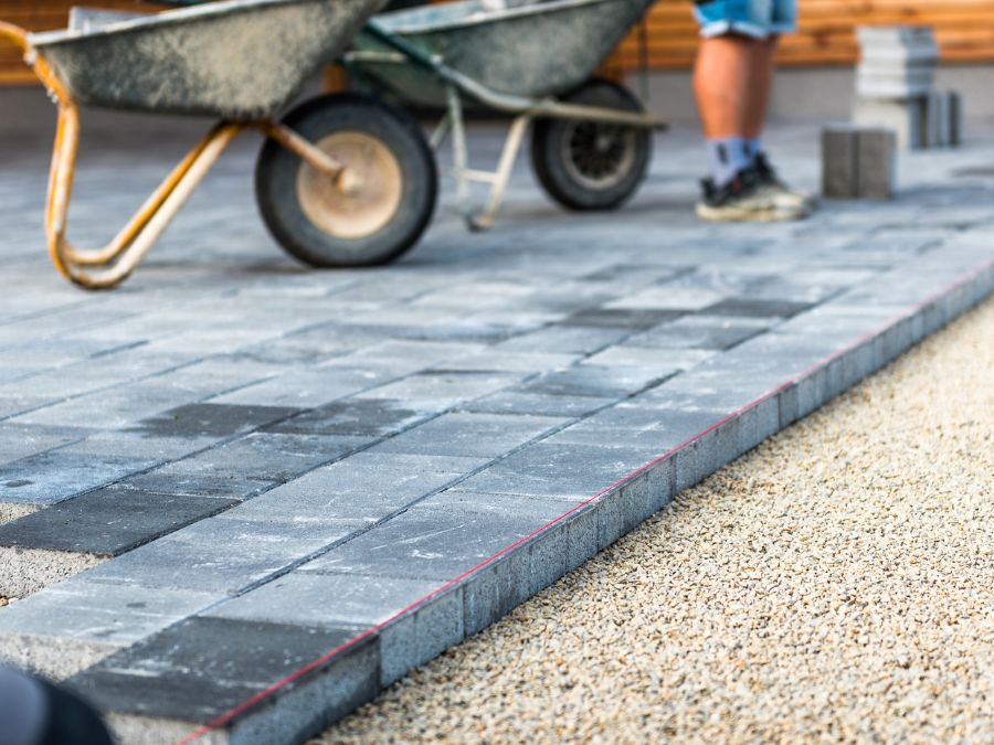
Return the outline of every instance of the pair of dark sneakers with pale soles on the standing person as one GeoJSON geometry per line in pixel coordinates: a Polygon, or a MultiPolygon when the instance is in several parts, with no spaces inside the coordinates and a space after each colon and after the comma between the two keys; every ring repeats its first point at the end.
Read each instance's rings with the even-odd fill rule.
{"type": "Polygon", "coordinates": [[[708,222],[785,222],[803,220],[810,207],[790,203],[763,183],[755,167],[739,171],[719,187],[711,179],[700,182],[704,199],[697,216],[708,222]]]}

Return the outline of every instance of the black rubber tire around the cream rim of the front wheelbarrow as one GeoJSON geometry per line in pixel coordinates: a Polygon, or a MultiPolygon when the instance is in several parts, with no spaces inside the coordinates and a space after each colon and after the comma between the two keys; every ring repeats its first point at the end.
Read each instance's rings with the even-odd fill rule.
{"type": "Polygon", "coordinates": [[[376,98],[346,93],[310,99],[283,123],[310,142],[339,131],[374,137],[396,158],[403,177],[401,204],[388,225],[361,238],[337,237],[315,225],[300,205],[297,175],[304,161],[267,138],[255,170],[255,196],[266,227],[290,256],[318,268],[379,266],[421,240],[438,201],[438,173],[411,116],[376,98]]]}

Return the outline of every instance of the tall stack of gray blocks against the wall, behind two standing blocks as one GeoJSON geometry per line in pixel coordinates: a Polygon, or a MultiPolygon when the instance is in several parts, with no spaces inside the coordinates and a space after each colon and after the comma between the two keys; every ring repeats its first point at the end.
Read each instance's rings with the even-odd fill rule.
{"type": "Polygon", "coordinates": [[[935,91],[939,47],[928,26],[863,26],[856,71],[857,125],[887,127],[905,150],[955,147],[962,102],[935,91]]]}

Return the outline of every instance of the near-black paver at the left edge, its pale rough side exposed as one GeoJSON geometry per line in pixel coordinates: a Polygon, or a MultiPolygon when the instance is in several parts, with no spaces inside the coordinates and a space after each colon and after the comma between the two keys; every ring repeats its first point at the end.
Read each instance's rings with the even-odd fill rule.
{"type": "Polygon", "coordinates": [[[232,504],[108,487],[0,525],[0,546],[117,556],[232,504]]]}

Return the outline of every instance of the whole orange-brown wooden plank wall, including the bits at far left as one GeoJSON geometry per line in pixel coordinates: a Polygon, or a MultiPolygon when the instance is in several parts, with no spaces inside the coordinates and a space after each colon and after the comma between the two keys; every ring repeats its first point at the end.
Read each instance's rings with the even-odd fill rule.
{"type": "MultiPolygon", "coordinates": [[[[66,23],[72,0],[0,0],[0,20],[32,30],[66,23]]],[[[136,9],[135,0],[88,0],[101,8],[136,9]]],[[[146,6],[147,7],[147,6],[146,6]]],[[[848,65],[856,61],[854,29],[863,24],[922,23],[934,26],[949,62],[994,62],[994,0],[800,0],[801,32],[784,39],[783,65],[848,65]]],[[[689,0],[659,0],[648,15],[652,67],[684,70],[697,49],[689,0]]],[[[609,62],[614,72],[638,66],[633,34],[609,62]]],[[[0,85],[33,83],[19,55],[0,43],[0,85]]]]}

